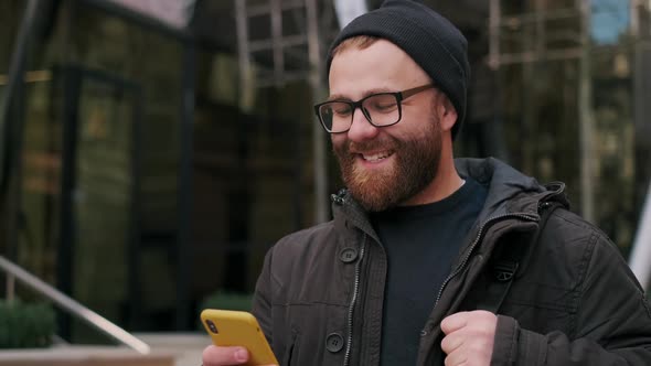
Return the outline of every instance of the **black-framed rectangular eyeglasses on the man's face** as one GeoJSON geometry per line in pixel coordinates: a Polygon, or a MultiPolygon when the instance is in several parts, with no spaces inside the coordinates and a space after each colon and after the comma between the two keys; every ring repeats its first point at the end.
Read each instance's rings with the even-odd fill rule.
{"type": "Polygon", "coordinates": [[[377,93],[357,101],[329,100],[314,106],[319,121],[330,133],[350,130],[355,109],[360,108],[369,123],[375,127],[387,127],[401,121],[403,117],[402,101],[420,92],[434,88],[431,84],[417,86],[396,93],[377,93]]]}

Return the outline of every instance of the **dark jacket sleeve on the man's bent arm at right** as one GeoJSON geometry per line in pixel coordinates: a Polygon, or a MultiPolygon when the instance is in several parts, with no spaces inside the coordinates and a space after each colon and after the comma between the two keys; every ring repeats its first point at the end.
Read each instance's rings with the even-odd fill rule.
{"type": "Polygon", "coordinates": [[[498,316],[491,365],[651,365],[651,310],[617,248],[595,230],[573,334],[498,316]]]}

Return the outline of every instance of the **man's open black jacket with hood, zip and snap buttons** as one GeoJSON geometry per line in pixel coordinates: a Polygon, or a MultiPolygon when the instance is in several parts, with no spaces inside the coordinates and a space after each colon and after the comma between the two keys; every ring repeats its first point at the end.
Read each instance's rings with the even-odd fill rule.
{"type": "MultiPolygon", "coordinates": [[[[491,364],[651,365],[651,311],[612,243],[564,208],[533,240],[541,209],[566,204],[563,184],[541,186],[494,159],[456,163],[489,194],[423,324],[418,365],[444,364],[439,323],[487,298],[494,252],[532,243],[499,308],[491,364]]],[[[386,254],[346,193],[333,214],[266,256],[254,313],[281,365],[378,364],[386,254]]]]}

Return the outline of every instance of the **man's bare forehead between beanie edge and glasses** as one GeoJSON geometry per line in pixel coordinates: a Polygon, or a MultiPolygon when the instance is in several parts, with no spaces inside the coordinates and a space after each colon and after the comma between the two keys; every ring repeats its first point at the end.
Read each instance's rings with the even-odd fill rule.
{"type": "Polygon", "coordinates": [[[377,40],[367,47],[348,46],[330,66],[330,95],[361,98],[375,90],[397,92],[427,83],[429,77],[401,47],[377,40]]]}

